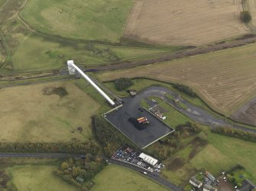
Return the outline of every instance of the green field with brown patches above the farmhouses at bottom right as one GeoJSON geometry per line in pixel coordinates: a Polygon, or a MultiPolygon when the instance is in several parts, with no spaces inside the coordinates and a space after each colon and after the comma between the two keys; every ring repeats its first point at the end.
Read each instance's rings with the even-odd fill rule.
{"type": "Polygon", "coordinates": [[[256,182],[256,176],[254,175],[256,170],[254,160],[256,158],[255,143],[214,134],[209,130],[205,133],[207,134],[208,145],[200,148],[193,158],[189,157],[191,151],[193,151],[193,145],[190,145],[165,161],[169,164],[169,161],[177,160],[177,158],[180,161],[180,158],[182,158],[183,163],[178,163],[180,166],[176,164],[178,167],[175,170],[167,170],[166,168],[163,171],[164,177],[169,178],[173,183],[184,186],[188,183],[190,177],[202,168],[218,177],[223,170],[229,170],[236,164],[241,164],[251,174],[251,177],[249,177],[251,181],[256,182]]]}

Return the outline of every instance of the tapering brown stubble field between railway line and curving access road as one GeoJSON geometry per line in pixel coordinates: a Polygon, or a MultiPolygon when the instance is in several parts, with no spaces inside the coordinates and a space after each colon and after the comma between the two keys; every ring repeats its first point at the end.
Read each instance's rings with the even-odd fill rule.
{"type": "Polygon", "coordinates": [[[99,72],[102,81],[147,77],[194,88],[203,100],[230,115],[256,93],[256,43],[154,65],[99,72]]]}

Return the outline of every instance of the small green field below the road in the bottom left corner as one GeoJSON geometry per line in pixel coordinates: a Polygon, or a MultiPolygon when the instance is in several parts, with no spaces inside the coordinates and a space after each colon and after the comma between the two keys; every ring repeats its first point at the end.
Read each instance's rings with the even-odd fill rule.
{"type": "Polygon", "coordinates": [[[6,170],[18,191],[79,191],[75,186],[54,175],[53,170],[56,169],[57,166],[50,165],[22,165],[8,167],[6,170]]]}

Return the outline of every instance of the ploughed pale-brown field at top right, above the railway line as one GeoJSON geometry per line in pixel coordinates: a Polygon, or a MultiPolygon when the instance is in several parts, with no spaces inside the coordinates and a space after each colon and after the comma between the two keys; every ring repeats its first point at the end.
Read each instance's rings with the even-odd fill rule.
{"type": "Polygon", "coordinates": [[[165,45],[202,45],[247,33],[241,0],[140,0],[124,32],[165,45]]]}

